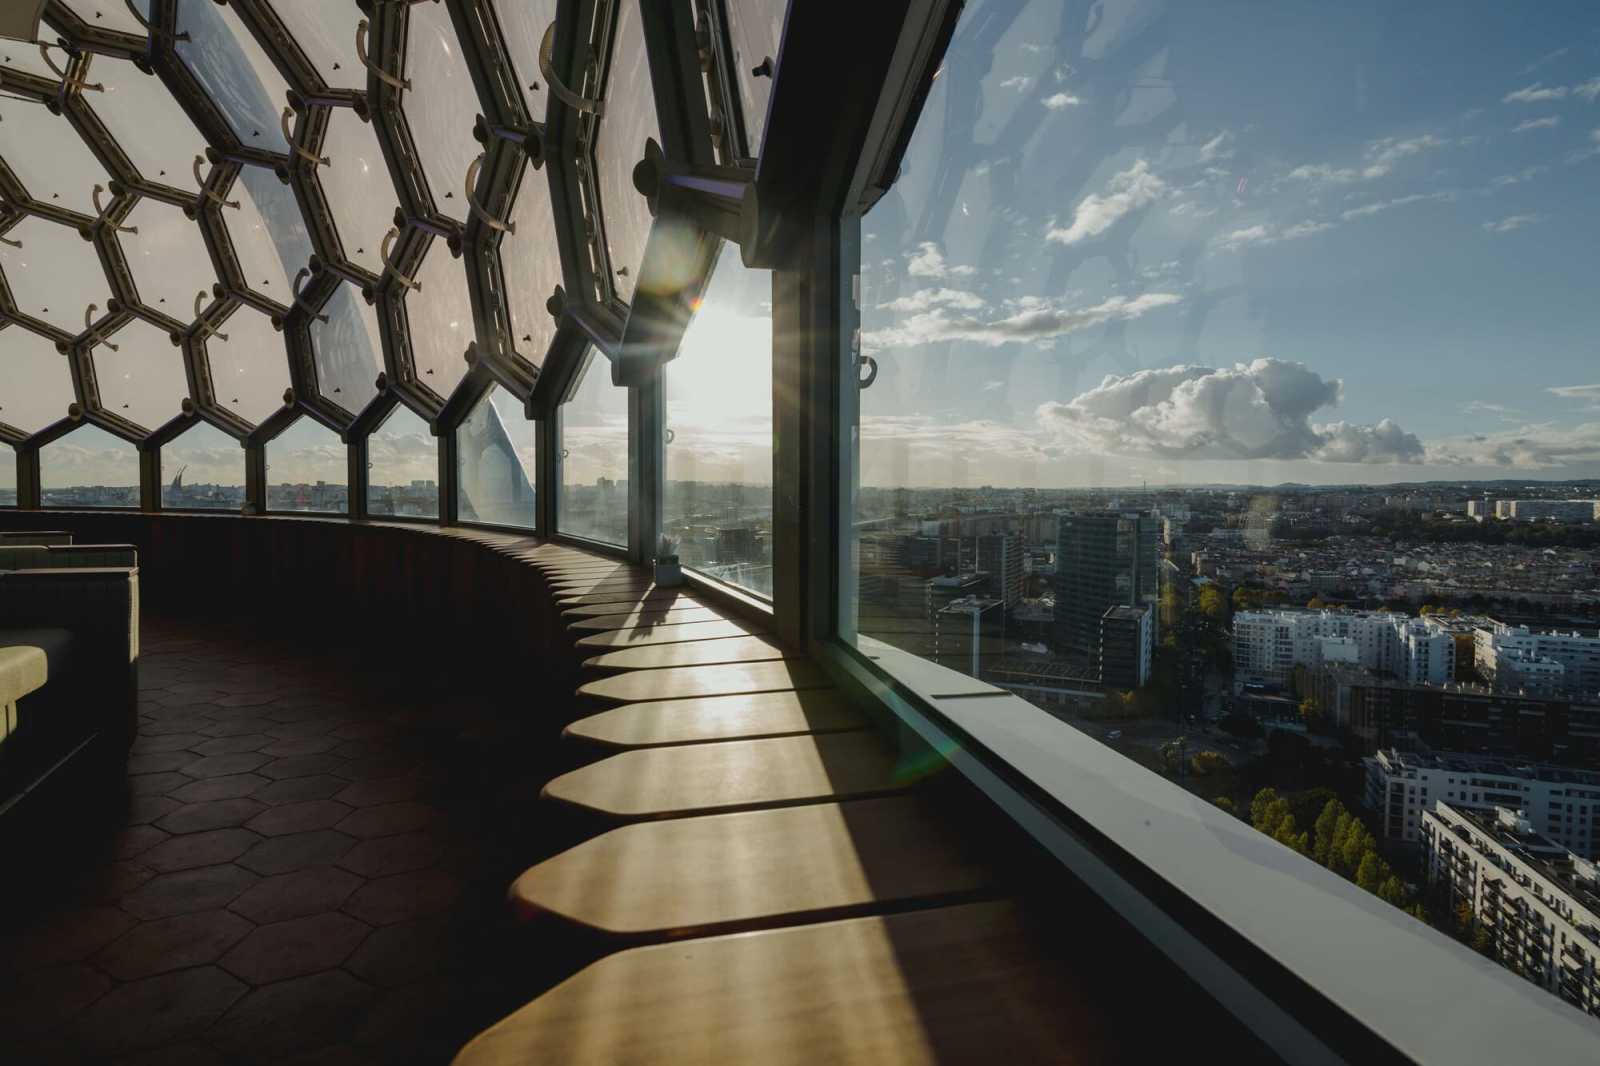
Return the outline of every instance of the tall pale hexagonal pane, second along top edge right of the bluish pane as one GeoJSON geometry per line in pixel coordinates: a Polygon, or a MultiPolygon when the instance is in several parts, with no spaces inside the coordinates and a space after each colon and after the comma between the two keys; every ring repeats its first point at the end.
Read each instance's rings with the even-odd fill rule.
{"type": "Polygon", "coordinates": [[[422,158],[434,208],[464,222],[467,166],[483,150],[472,138],[478,94],[445,5],[413,5],[408,19],[405,53],[411,90],[400,106],[422,158]]]}

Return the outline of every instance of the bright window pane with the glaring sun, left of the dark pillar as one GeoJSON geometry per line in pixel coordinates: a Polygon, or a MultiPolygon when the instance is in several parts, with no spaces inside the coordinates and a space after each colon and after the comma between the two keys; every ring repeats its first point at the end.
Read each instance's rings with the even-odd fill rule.
{"type": "Polygon", "coordinates": [[[667,363],[662,531],[678,560],[773,594],[773,280],[723,248],[667,363]]]}

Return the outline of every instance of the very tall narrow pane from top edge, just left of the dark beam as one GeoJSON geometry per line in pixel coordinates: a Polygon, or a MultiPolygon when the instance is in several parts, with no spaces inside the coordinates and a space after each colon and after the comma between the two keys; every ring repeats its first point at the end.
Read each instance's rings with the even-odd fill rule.
{"type": "Polygon", "coordinates": [[[661,130],[638,5],[618,6],[616,45],[606,74],[606,117],[600,120],[595,139],[595,166],[606,246],[611,250],[611,280],[618,299],[630,301],[634,279],[645,258],[645,238],[650,237],[650,203],[634,187],[634,166],[645,158],[645,141],[661,141],[661,130]]]}

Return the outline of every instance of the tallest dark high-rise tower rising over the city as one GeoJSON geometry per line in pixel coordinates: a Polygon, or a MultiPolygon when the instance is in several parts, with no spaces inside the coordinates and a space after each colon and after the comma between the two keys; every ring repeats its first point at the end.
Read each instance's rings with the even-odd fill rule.
{"type": "Polygon", "coordinates": [[[1162,522],[1139,514],[1062,514],[1056,527],[1056,639],[1061,651],[1099,659],[1112,607],[1160,599],[1162,522]]]}

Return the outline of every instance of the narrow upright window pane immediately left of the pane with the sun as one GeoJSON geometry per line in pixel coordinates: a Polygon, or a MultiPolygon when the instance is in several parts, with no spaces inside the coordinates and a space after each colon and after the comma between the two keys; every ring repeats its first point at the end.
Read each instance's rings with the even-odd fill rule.
{"type": "Polygon", "coordinates": [[[562,405],[562,533],[627,544],[627,389],[595,352],[578,392],[562,405]]]}

